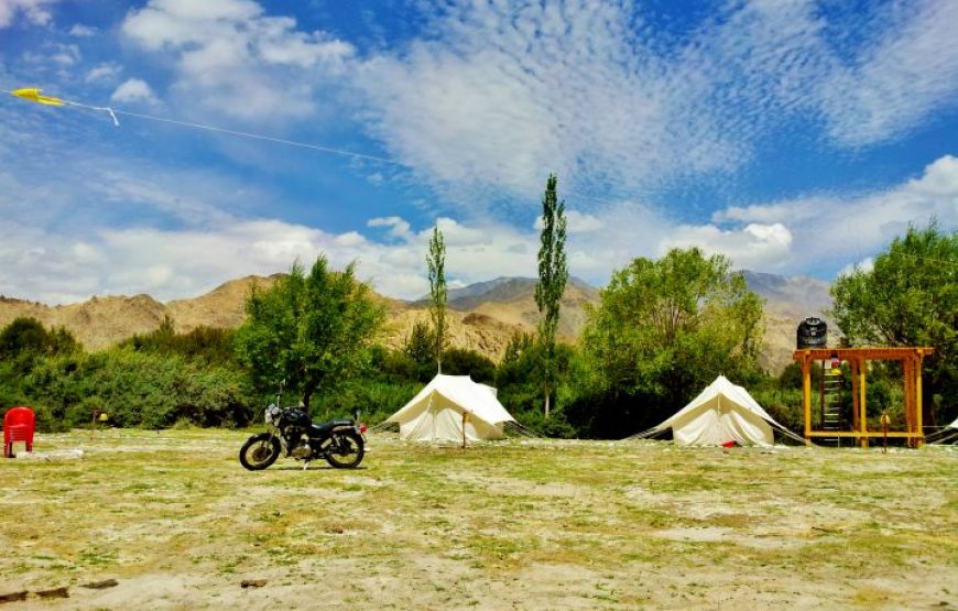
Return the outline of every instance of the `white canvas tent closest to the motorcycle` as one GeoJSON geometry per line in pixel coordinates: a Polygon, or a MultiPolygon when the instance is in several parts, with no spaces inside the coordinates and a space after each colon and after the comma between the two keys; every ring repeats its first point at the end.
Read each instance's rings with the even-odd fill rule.
{"type": "Polygon", "coordinates": [[[433,378],[387,423],[396,423],[400,437],[415,441],[461,441],[462,414],[466,439],[499,439],[507,422],[515,422],[496,399],[496,389],[468,375],[433,378]]]}

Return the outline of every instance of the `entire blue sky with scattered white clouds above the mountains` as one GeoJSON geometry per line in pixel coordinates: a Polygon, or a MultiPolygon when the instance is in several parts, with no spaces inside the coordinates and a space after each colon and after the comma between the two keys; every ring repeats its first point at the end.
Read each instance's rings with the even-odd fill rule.
{"type": "Polygon", "coordinates": [[[0,294],[323,252],[416,297],[437,222],[454,285],[534,276],[549,172],[596,285],[689,246],[831,280],[958,227],[956,31],[951,0],[0,0],[0,89],[120,119],[0,95],[0,294]]]}

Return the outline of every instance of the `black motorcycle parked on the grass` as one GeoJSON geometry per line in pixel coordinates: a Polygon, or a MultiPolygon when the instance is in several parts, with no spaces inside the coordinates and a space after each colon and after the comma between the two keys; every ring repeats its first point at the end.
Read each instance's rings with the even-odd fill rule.
{"type": "MultiPolygon", "coordinates": [[[[323,458],[336,469],[352,469],[366,454],[366,425],[355,419],[314,423],[308,414],[294,406],[280,407],[276,402],[265,411],[266,432],[253,435],[240,448],[240,463],[260,471],[276,461],[281,454],[297,460],[323,458]]],[[[357,414],[357,419],[359,415],[357,414]]]]}

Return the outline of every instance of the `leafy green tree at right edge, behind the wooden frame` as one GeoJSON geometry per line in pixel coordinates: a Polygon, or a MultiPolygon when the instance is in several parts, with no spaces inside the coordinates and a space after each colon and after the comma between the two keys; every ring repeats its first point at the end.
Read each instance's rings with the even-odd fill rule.
{"type": "Polygon", "coordinates": [[[935,220],[910,226],[871,270],[840,276],[831,296],[852,346],[934,348],[923,368],[924,403],[937,404],[940,422],[958,416],[958,231],[941,231],[935,220]]]}

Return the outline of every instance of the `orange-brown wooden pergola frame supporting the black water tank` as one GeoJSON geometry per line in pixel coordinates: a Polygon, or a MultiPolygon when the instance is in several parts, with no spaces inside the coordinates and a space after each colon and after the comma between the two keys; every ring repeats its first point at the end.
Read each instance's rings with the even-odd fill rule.
{"type": "Polygon", "coordinates": [[[869,430],[866,417],[866,362],[900,361],[905,383],[905,422],[907,430],[890,430],[889,437],[904,437],[917,447],[925,440],[922,429],[922,360],[932,348],[817,348],[795,350],[793,361],[802,363],[803,405],[805,407],[805,439],[813,437],[853,437],[861,447],[868,447],[872,437],[882,437],[881,430],[869,430]],[[851,430],[815,430],[812,427],[812,363],[830,359],[847,361],[851,367],[853,400],[851,430]]]}

